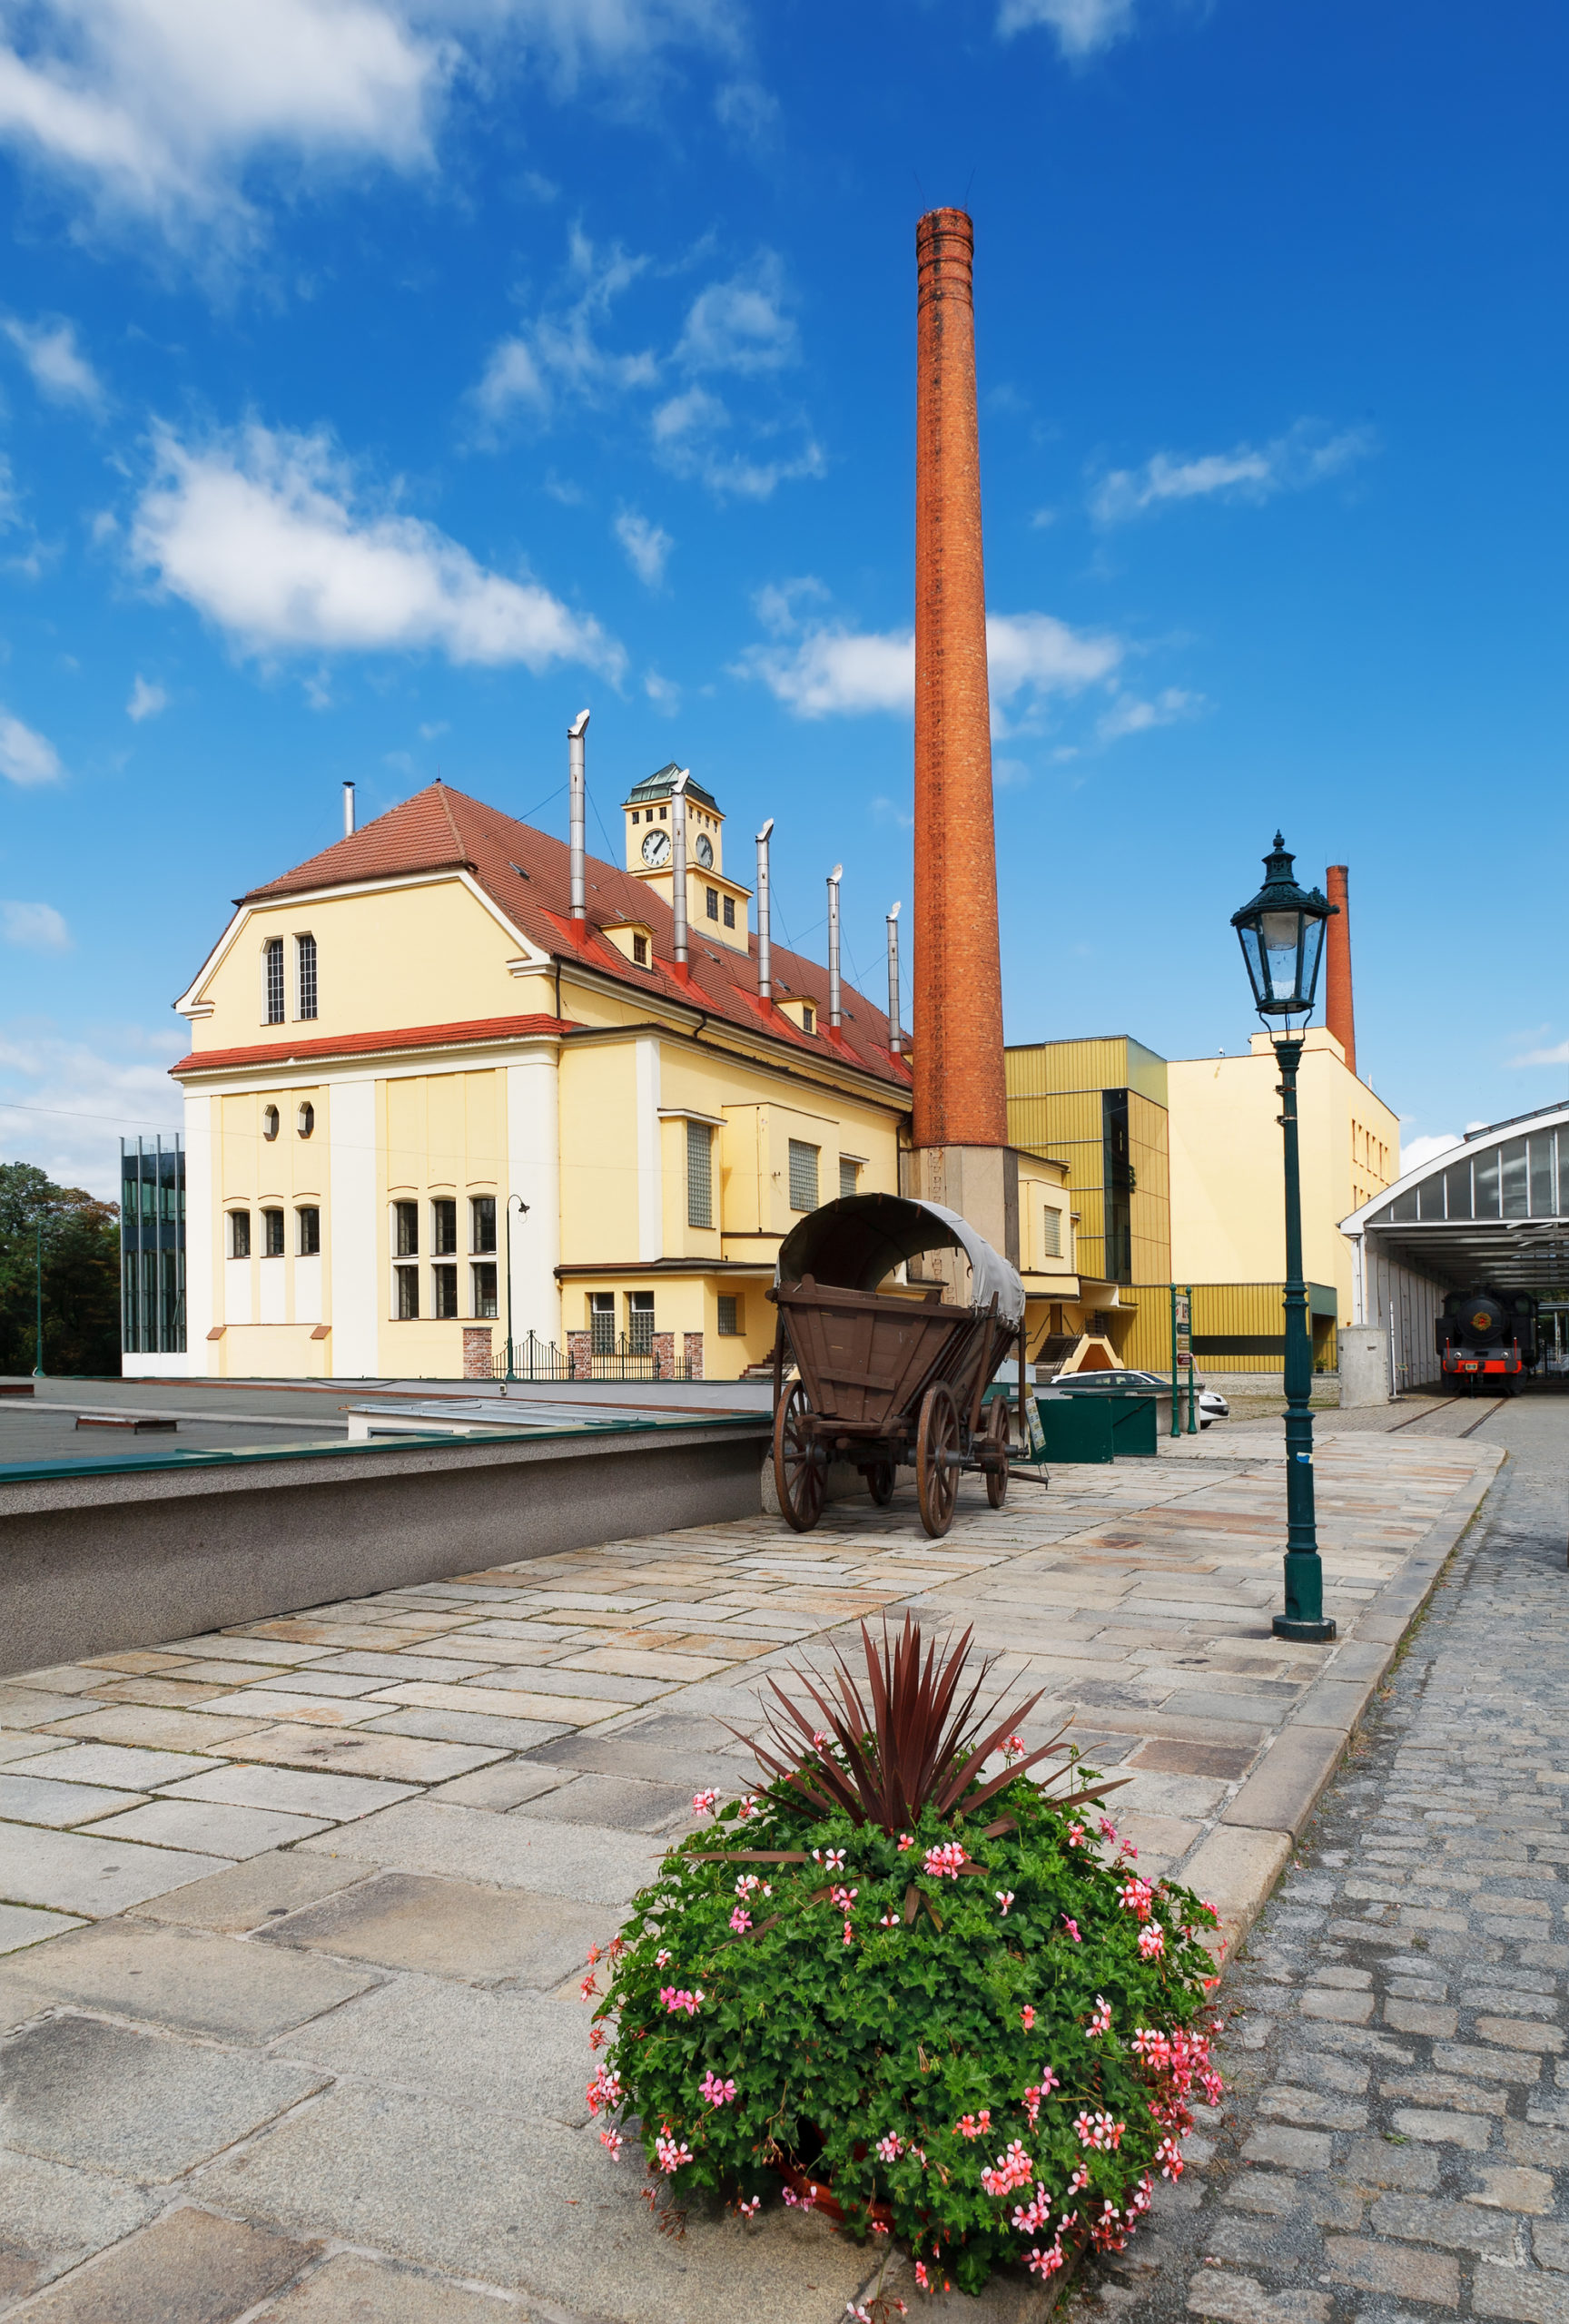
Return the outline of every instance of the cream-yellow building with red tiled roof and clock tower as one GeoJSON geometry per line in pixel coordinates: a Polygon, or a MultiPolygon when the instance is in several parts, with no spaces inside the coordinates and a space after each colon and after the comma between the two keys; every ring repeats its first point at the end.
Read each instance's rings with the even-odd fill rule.
{"type": "MultiPolygon", "coordinates": [[[[567,846],[439,783],[242,897],[177,1004],[188,1371],[488,1376],[509,1308],[579,1371],[769,1353],[795,1218],[897,1192],[909,1067],[816,962],[774,946],[758,992],[693,783],[674,957],[676,781],[625,799],[623,867],[586,858],[581,923],[567,846]]],[[[1030,1234],[1058,1176],[1025,1167],[1030,1234]]]]}

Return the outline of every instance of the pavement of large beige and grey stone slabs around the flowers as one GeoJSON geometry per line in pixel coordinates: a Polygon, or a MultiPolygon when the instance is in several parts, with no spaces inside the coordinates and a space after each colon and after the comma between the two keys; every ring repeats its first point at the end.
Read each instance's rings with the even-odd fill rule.
{"type": "MultiPolygon", "coordinates": [[[[751,1780],[730,1729],[755,1727],[758,1687],[795,1685],[802,1655],[853,1648],[862,1618],[909,1606],[930,1627],[974,1624],[997,1683],[1044,1694],[1030,1741],[1072,1720],[1090,1764],[1132,1778],[1118,1820],[1141,1864],[1181,1866],[1241,1929],[1499,1457],[1485,1443],[1325,1441],[1320,1538],[1341,1624],[1327,1650],[1269,1631],[1278,1436],[1216,1432],[1155,1462],[1058,1471],[1051,1492],[1020,1483],[1000,1513],[965,1485],[939,1543],[902,1492],[888,1511],[834,1504],[811,1536],[755,1518],[616,1541],[0,1685],[0,1762],[26,1799],[51,1785],[70,1813],[72,1787],[102,1787],[126,1831],[7,1822],[0,1803],[0,1901],[40,1924],[0,1964],[2,2022],[23,2038],[98,2024],[207,2043],[325,2078],[174,2182],[177,2203],[305,2252],[265,2315],[349,2317],[386,2294],[388,2317],[470,2324],[453,2301],[483,2294],[490,2315],[551,2324],[841,2317],[874,2254],[779,2208],[746,2229],[695,2219],[669,2245],[649,2233],[635,2173],[583,2126],[579,1964],[686,1824],[690,1794],[751,1780]],[[132,1838],[137,1817],[153,1822],[132,1838]],[[198,1829],[228,1848],[156,1845],[198,1829]]],[[[1506,1894],[1492,1917],[1523,1915],[1506,1894]]],[[[1355,2017],[1355,1996],[1332,2006],[1355,2017]]],[[[1353,2017],[1313,2022],[1367,2033],[1353,2017]]],[[[1497,2036],[1434,2047],[1541,2073],[1543,2052],[1497,2036]]],[[[1337,2136],[1313,2117],[1323,2087],[1302,2087],[1271,2131],[1337,2136]]],[[[1441,2101],[1413,2082],[1402,2103],[1441,2101]]],[[[37,2187],[26,2203],[42,2217],[58,2189],[37,2187]]],[[[79,2233],[23,2238],[16,2282],[58,2278],[63,2298],[128,2254],[146,2219],[126,2180],[121,2208],[86,2205],[79,2233]],[[70,2273],[91,2252],[102,2259],[70,2273]]],[[[909,2296],[900,2268],[888,2284],[909,2296]]],[[[1025,2324],[1041,2298],[997,2282],[953,2312],[1025,2324]]]]}

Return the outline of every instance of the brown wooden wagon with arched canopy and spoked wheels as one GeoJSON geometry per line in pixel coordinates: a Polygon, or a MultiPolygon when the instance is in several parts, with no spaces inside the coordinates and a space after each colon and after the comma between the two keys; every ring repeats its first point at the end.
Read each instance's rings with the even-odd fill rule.
{"type": "Polygon", "coordinates": [[[797,1534],[823,1513],[828,1466],[846,1459],[879,1506],[900,1466],[916,1469],[927,1534],[953,1525],[965,1469],[986,1476],[993,1508],[1009,1490],[1009,1406],[986,1406],[1004,1357],[1023,1346],[1018,1274],[967,1220],[900,1195],[848,1195],[802,1220],[779,1253],[769,1290],[774,1332],[774,1483],[797,1534]],[[925,1250],[969,1260],[974,1299],[944,1285],[883,1287],[902,1260],[925,1250]],[[786,1371],[795,1364],[795,1380],[786,1371]]]}

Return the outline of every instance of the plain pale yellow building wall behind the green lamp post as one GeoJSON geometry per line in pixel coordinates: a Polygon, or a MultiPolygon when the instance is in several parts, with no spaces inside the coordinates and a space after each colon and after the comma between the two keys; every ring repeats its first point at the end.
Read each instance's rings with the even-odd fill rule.
{"type": "MultiPolygon", "coordinates": [[[[1239,1057],[1167,1067],[1172,1092],[1172,1276],[1178,1283],[1281,1283],[1285,1183],[1281,1071],[1267,1034],[1239,1057]]],[[[1297,1074],[1302,1262],[1332,1283],[1351,1322],[1351,1243],[1339,1232],[1360,1202],[1399,1176],[1399,1120],[1346,1071],[1334,1034],[1306,1034],[1297,1074]]]]}

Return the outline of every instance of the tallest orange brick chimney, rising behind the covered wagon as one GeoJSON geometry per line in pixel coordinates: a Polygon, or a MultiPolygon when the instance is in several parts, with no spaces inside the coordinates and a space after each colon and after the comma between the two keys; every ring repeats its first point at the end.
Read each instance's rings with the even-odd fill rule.
{"type": "Polygon", "coordinates": [[[997,844],[986,679],[974,228],[916,228],[916,913],[911,1192],[1018,1255],[1002,1074],[997,844]]]}

